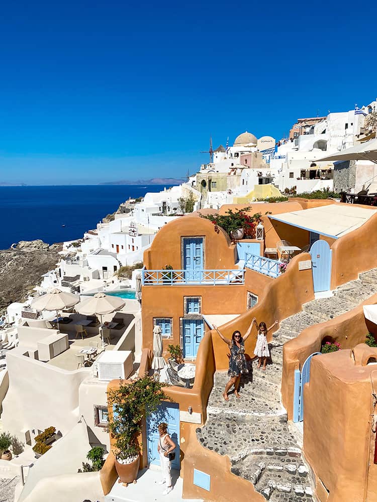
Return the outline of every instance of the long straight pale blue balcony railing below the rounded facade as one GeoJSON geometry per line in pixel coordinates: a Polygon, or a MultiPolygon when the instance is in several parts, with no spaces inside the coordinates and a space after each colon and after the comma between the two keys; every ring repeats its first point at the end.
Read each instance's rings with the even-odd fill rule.
{"type": "Polygon", "coordinates": [[[218,286],[244,284],[245,270],[146,270],[141,271],[143,286],[218,286]]]}

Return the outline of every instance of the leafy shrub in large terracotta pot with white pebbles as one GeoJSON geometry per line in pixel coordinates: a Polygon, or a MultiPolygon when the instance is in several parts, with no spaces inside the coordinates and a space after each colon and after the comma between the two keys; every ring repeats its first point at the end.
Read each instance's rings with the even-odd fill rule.
{"type": "Polygon", "coordinates": [[[107,393],[108,403],[113,409],[113,413],[109,413],[108,431],[119,482],[128,484],[136,480],[142,421],[158,409],[161,400],[169,400],[163,387],[166,387],[165,383],[146,374],[130,383],[121,381],[118,389],[107,393]]]}

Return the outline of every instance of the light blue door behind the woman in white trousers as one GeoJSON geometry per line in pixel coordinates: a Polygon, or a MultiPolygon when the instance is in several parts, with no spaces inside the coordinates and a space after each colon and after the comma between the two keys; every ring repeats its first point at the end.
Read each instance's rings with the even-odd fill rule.
{"type": "Polygon", "coordinates": [[[177,403],[161,403],[158,410],[147,419],[148,463],[160,465],[160,456],[157,451],[160,435],[157,427],[161,422],[167,423],[167,432],[177,445],[171,467],[179,470],[179,405],[177,403]]]}

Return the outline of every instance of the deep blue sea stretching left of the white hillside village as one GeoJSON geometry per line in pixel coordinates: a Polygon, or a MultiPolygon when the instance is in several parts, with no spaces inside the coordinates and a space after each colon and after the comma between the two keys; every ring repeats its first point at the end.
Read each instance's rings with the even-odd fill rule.
{"type": "Polygon", "coordinates": [[[170,185],[0,187],[0,249],[20,240],[52,244],[80,238],[129,197],[159,192],[164,186],[170,185]]]}

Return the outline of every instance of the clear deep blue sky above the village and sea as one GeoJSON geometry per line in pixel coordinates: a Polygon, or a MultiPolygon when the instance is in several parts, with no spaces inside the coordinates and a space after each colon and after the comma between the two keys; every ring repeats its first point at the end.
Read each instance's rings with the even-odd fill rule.
{"type": "Polygon", "coordinates": [[[184,176],[377,97],[372,3],[6,2],[0,182],[184,176]]]}

